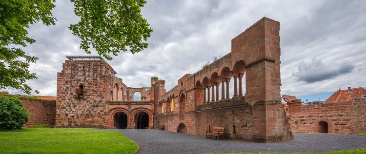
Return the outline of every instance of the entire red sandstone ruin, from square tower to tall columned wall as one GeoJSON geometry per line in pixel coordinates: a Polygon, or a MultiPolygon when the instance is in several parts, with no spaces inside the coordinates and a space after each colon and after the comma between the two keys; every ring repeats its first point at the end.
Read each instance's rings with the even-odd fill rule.
{"type": "Polygon", "coordinates": [[[280,96],[279,30],[279,22],[260,19],[231,40],[230,53],[184,75],[168,92],[157,77],[151,78],[150,87],[127,87],[102,58],[69,58],[58,73],[56,127],[165,125],[167,131],[199,136],[210,127],[225,127],[227,137],[292,139],[280,96]],[[234,87],[229,87],[230,81],[234,87]],[[132,101],[135,92],[141,93],[142,101],[132,101]]]}

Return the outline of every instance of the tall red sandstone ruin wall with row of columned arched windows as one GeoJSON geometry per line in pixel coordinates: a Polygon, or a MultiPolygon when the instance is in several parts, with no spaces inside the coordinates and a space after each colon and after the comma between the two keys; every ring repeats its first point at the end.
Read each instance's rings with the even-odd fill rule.
{"type": "Polygon", "coordinates": [[[156,100],[155,125],[165,125],[166,130],[177,132],[183,123],[184,131],[199,136],[204,136],[209,126],[225,127],[226,135],[231,137],[235,125],[235,134],[247,140],[292,139],[280,96],[279,22],[263,18],[231,42],[231,53],[194,75],[183,76],[176,87],[156,100]],[[211,90],[217,91],[215,85],[228,83],[231,77],[234,77],[234,85],[238,78],[241,85],[244,73],[245,96],[234,88],[234,97],[230,99],[224,88],[226,94],[213,93],[215,97],[211,100],[216,101],[203,103],[203,88],[212,87],[211,90]],[[173,111],[170,110],[172,99],[173,111]],[[161,113],[162,108],[164,113],[161,113]]]}

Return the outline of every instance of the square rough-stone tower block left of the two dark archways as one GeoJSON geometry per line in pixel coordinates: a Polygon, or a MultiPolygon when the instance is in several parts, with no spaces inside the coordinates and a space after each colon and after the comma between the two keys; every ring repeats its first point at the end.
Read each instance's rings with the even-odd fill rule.
{"type": "Polygon", "coordinates": [[[57,74],[56,127],[107,128],[113,69],[103,60],[66,60],[57,74]],[[75,94],[83,85],[84,94],[75,94]]]}

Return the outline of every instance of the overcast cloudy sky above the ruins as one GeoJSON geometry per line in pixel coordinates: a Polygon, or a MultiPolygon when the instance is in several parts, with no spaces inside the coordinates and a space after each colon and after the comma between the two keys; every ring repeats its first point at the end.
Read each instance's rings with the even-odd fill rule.
{"type": "MultiPolygon", "coordinates": [[[[31,25],[37,42],[24,48],[40,58],[30,69],[38,79],[28,83],[43,96],[56,96],[65,55],[86,55],[67,28],[79,21],[73,4],[57,0],[52,12],[56,25],[31,25]]],[[[170,90],[184,74],[229,53],[231,39],[263,17],[281,23],[281,95],[325,100],[339,88],[366,87],[365,0],[148,0],[142,15],[154,30],[149,47],[108,61],[130,87],[147,87],[157,76],[170,90]]]]}

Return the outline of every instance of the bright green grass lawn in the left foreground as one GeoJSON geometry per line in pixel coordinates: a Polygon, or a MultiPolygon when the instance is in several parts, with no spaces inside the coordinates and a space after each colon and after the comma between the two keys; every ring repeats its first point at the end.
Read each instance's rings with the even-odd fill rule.
{"type": "Polygon", "coordinates": [[[115,131],[89,128],[25,128],[0,132],[0,154],[134,154],[139,146],[115,131]]]}

